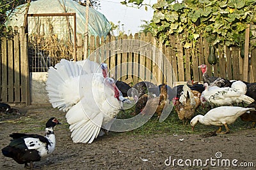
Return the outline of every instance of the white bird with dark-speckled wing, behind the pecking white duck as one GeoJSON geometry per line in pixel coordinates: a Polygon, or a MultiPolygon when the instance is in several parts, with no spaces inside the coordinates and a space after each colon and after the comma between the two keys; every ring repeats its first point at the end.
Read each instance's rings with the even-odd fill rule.
{"type": "Polygon", "coordinates": [[[201,102],[204,104],[206,101],[216,106],[232,106],[234,103],[253,103],[254,99],[244,95],[239,90],[231,87],[209,87],[204,83],[205,90],[201,95],[201,102]]]}

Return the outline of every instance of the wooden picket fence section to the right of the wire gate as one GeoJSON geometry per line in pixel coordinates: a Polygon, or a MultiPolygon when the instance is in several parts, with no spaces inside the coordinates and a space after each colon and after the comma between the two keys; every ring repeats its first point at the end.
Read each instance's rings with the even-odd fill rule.
{"type": "MultiPolygon", "coordinates": [[[[128,79],[128,82],[132,80],[134,83],[137,83],[138,81],[152,81],[156,84],[160,84],[169,81],[166,80],[166,75],[168,76],[169,74],[173,74],[175,77],[172,80],[176,81],[202,81],[202,72],[198,69],[200,64],[207,64],[207,73],[210,75],[212,73],[212,76],[221,76],[228,80],[244,80],[244,75],[248,74],[247,81],[256,81],[256,50],[253,50],[250,53],[250,57],[248,58],[249,62],[245,63],[245,57],[243,59],[240,56],[239,48],[218,46],[216,48],[216,56],[218,56],[217,64],[211,66],[211,64],[207,62],[207,57],[209,56],[209,44],[202,37],[199,38],[198,45],[194,52],[191,52],[191,49],[184,48],[179,39],[174,36],[170,38],[172,39],[171,46],[168,47],[159,45],[157,40],[153,38],[151,34],[144,33],[135,34],[134,36],[124,35],[118,38],[108,36],[105,40],[103,39],[104,38],[101,38],[100,40],[99,37],[94,36],[90,37],[90,43],[88,45],[89,58],[96,62],[105,60],[110,67],[111,74],[117,79],[120,78],[122,81],[128,79]],[[149,46],[151,50],[147,49],[146,52],[143,52],[143,50],[145,50],[145,48],[143,48],[145,43],[142,43],[142,45],[136,43],[128,45],[129,52],[124,52],[123,49],[125,48],[125,45],[120,44],[124,39],[133,41],[140,40],[141,42],[149,43],[151,45],[151,47],[149,46]],[[115,50],[111,51],[113,48],[111,48],[110,51],[108,50],[108,45],[110,44],[113,46],[113,41],[116,42],[114,45],[116,47],[115,50],[120,51],[120,53],[116,54],[115,50]],[[104,48],[102,48],[102,46],[104,46],[104,48]],[[156,49],[153,49],[152,46],[156,46],[156,49]],[[134,48],[143,48],[143,50],[134,53],[132,52],[134,48]],[[96,53],[93,53],[92,55],[92,52],[95,52],[95,50],[96,53]],[[163,55],[159,55],[159,52],[163,52],[163,55]],[[154,61],[152,62],[152,60],[154,61]],[[127,69],[124,69],[125,66],[123,66],[119,69],[113,69],[116,65],[124,62],[138,62],[140,63],[140,66],[138,67],[137,65],[134,65],[132,67],[127,67],[127,69]],[[170,63],[172,69],[166,67],[168,66],[168,63],[170,63]],[[141,66],[146,67],[152,74],[145,73],[143,69],[140,69],[141,66]],[[244,67],[248,67],[248,73],[244,73],[244,70],[246,70],[244,67]],[[134,76],[134,74],[138,76],[134,76]],[[138,78],[140,78],[140,80],[138,80],[138,78]]],[[[81,48],[78,48],[77,50],[77,60],[81,60],[83,59],[83,43],[82,41],[78,41],[77,44],[81,45],[81,48]]]]}

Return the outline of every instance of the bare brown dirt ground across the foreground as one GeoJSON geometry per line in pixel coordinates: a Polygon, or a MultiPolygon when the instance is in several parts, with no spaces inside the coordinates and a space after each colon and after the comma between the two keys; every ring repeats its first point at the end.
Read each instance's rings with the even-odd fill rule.
{"type": "MultiPolygon", "coordinates": [[[[35,163],[41,169],[242,169],[241,166],[252,164],[254,167],[246,169],[256,167],[256,129],[241,129],[209,138],[200,134],[142,136],[110,132],[92,144],[83,144],[72,142],[62,111],[51,106],[20,106],[19,109],[21,115],[0,115],[1,148],[8,145],[8,135],[12,132],[44,135],[44,124],[50,117],[63,123],[55,128],[54,153],[49,159],[35,163]]],[[[2,154],[0,159],[0,169],[24,167],[2,154]]]]}

